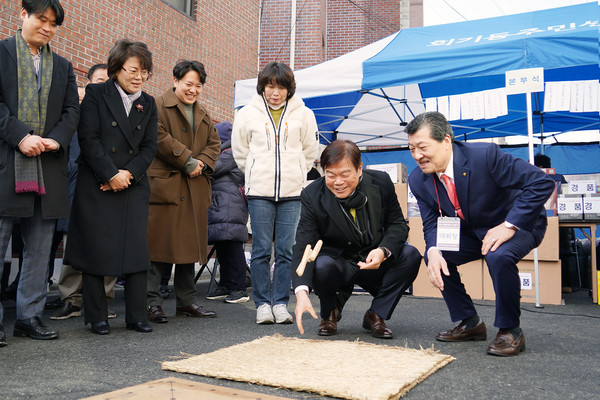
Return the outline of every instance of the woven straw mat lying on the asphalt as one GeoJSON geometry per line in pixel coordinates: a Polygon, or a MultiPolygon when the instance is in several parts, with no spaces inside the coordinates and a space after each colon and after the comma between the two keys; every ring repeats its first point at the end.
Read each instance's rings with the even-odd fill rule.
{"type": "Polygon", "coordinates": [[[431,349],[273,335],[163,362],[162,368],[351,400],[389,400],[453,360],[431,349]]]}

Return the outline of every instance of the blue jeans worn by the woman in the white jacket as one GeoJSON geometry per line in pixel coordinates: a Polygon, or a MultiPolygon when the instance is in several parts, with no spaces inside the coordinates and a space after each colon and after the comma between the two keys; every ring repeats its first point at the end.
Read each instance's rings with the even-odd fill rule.
{"type": "Polygon", "coordinates": [[[252,227],[252,297],[262,304],[286,304],[292,285],[292,246],[300,220],[300,200],[271,201],[249,199],[252,227]],[[275,242],[275,270],[270,279],[271,244],[275,242]]]}

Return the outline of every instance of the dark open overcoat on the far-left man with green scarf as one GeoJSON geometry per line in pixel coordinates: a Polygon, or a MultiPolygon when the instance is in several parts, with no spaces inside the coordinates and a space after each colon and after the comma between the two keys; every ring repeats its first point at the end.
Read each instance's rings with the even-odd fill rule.
{"type": "MultiPolygon", "coordinates": [[[[54,139],[60,148],[44,152],[42,160],[46,194],[39,196],[42,217],[64,218],[67,207],[67,148],[79,120],[79,96],[73,66],[52,53],[52,84],[44,137],[54,139]]],[[[33,215],[34,193],[15,192],[15,149],[29,132],[30,126],[17,119],[19,87],[17,85],[17,48],[15,37],[0,42],[0,216],[33,215]]]]}

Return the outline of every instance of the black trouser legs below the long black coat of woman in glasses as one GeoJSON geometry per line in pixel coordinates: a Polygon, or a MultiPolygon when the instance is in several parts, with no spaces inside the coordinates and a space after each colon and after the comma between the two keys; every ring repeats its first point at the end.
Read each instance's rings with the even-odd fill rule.
{"type": "MultiPolygon", "coordinates": [[[[146,322],[146,280],[147,271],[125,274],[125,322],[146,322]]],[[[104,276],[83,273],[84,322],[108,320],[108,303],[104,291],[104,276]]]]}

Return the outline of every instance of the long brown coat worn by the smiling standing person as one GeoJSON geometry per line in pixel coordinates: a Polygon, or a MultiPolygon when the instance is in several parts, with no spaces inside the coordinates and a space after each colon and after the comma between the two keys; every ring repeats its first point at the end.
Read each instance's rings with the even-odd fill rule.
{"type": "Polygon", "coordinates": [[[221,142],[208,112],[194,104],[194,129],[172,89],[156,99],[158,152],[148,169],[150,211],[148,245],[152,261],[186,264],[206,262],[207,210],[211,203],[210,174],[221,142]],[[188,158],[201,160],[209,170],[190,178],[188,158]]]}

